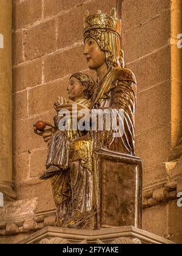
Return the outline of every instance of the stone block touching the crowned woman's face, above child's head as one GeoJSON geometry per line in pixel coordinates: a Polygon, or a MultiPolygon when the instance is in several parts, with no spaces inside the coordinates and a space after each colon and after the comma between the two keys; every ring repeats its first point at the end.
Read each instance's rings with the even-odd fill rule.
{"type": "Polygon", "coordinates": [[[44,59],[45,82],[70,76],[87,69],[87,60],[83,55],[83,46],[49,55],[44,59]]]}

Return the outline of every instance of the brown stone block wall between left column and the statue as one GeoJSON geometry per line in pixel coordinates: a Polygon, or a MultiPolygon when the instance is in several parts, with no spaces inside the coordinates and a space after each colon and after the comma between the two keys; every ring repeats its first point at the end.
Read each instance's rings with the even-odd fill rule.
{"type": "Polygon", "coordinates": [[[67,98],[69,77],[86,71],[83,16],[116,1],[14,1],[13,153],[18,200],[39,197],[38,212],[53,210],[49,182],[41,182],[46,144],[33,132],[39,119],[52,122],[53,102],[67,98]]]}

